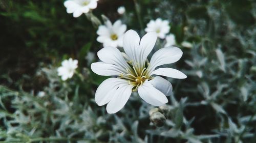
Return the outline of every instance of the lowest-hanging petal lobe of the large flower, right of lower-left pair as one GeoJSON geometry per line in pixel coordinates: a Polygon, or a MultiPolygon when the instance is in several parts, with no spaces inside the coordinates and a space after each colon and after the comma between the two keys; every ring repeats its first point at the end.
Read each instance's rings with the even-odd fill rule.
{"type": "Polygon", "coordinates": [[[119,88],[115,90],[115,93],[108,105],[106,105],[106,111],[108,113],[116,113],[121,110],[131,96],[132,88],[133,86],[129,83],[121,84],[119,88]]]}

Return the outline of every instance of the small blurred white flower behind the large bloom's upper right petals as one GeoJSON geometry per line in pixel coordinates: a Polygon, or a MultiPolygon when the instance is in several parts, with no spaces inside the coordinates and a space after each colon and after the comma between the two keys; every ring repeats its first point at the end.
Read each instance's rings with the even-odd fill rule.
{"type": "Polygon", "coordinates": [[[146,32],[156,32],[157,36],[161,39],[164,39],[165,35],[170,31],[168,20],[162,20],[161,18],[157,18],[155,21],[150,20],[146,26],[146,32]]]}

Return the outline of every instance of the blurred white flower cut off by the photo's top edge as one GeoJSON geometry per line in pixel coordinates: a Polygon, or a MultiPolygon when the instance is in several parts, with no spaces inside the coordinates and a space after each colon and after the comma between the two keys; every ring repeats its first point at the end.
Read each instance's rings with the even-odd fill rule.
{"type": "Polygon", "coordinates": [[[73,13],[74,17],[79,17],[82,13],[88,13],[90,9],[97,7],[98,0],[68,0],[64,2],[67,13],[73,13]]]}

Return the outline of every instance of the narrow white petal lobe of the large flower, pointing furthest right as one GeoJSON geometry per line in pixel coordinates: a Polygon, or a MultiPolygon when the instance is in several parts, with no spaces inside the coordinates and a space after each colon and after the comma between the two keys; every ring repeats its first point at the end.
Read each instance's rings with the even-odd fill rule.
{"type": "Polygon", "coordinates": [[[159,68],[153,71],[152,75],[153,74],[172,77],[172,78],[178,78],[178,79],[187,78],[187,76],[184,73],[172,68],[159,68]]]}

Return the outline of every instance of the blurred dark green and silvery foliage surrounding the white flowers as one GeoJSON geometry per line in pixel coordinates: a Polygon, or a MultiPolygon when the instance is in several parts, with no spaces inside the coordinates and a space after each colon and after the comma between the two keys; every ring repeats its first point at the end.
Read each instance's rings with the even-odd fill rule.
{"type": "Polygon", "coordinates": [[[90,70],[97,58],[85,58],[102,48],[86,16],[73,18],[58,0],[0,0],[0,142],[256,142],[255,1],[100,0],[93,13],[140,35],[151,19],[170,21],[183,51],[171,66],[188,78],[168,79],[164,126],[151,123],[153,107],[136,94],[115,115],[96,105],[106,77],[90,70]],[[79,69],[63,82],[56,67],[69,57],[79,69]]]}

